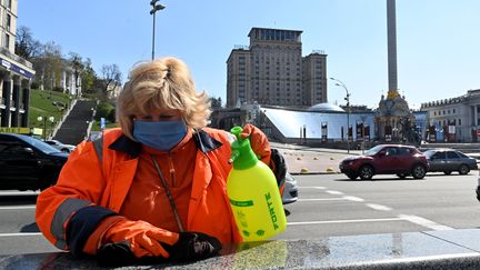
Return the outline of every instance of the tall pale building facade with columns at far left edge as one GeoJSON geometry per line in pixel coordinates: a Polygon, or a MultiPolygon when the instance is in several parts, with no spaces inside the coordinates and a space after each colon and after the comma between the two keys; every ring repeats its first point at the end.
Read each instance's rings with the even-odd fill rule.
{"type": "Polygon", "coordinates": [[[0,0],[0,127],[28,127],[32,63],[14,54],[18,0],[0,0]]]}

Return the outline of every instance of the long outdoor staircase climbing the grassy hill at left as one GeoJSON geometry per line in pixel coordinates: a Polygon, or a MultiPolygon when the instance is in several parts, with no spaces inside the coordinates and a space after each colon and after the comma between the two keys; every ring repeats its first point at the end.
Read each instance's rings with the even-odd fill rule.
{"type": "Polygon", "coordinates": [[[93,118],[96,107],[97,101],[78,100],[53,139],[67,144],[80,143],[88,134],[89,122],[93,118]]]}

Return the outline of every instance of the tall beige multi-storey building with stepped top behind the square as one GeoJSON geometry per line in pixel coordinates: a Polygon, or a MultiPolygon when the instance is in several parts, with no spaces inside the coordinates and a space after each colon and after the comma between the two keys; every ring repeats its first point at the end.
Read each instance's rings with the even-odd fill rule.
{"type": "Polygon", "coordinates": [[[327,54],[302,57],[302,31],[252,28],[250,46],[227,60],[227,107],[243,102],[310,107],[327,102],[327,54]]]}

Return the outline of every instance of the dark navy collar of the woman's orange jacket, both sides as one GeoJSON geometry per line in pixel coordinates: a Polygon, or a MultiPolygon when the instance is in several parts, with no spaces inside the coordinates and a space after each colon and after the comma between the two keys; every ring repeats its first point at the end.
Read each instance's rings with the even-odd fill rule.
{"type": "MultiPolygon", "coordinates": [[[[216,140],[203,130],[199,130],[193,133],[193,141],[196,142],[197,148],[203,153],[212,151],[222,146],[220,141],[216,140]]],[[[122,134],[109,146],[109,149],[122,151],[130,154],[132,158],[137,158],[141,152],[142,144],[122,134]]]]}

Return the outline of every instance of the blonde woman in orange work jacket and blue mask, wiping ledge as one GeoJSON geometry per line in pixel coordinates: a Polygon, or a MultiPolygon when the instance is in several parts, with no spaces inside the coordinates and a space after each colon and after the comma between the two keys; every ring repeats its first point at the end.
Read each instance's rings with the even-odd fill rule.
{"type": "MultiPolygon", "coordinates": [[[[56,186],[38,197],[44,237],[73,254],[196,260],[239,242],[226,192],[231,134],[206,128],[204,92],[176,58],[133,68],[117,103],[119,129],[81,142],[56,186]]],[[[276,172],[266,136],[247,124],[253,151],[276,172]]],[[[278,174],[278,173],[277,173],[278,174]]]]}

